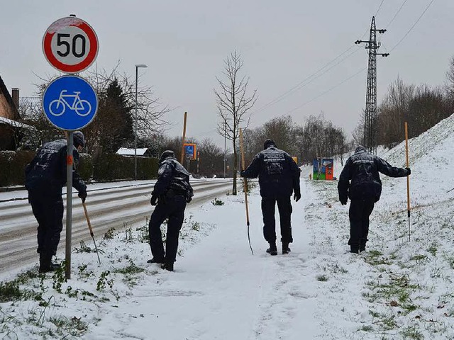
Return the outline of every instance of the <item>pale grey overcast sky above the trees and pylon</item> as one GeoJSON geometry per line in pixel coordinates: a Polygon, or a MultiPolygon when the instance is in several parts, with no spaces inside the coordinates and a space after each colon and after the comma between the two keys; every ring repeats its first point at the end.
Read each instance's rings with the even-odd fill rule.
{"type": "Polygon", "coordinates": [[[453,0],[1,0],[0,75],[10,90],[33,96],[35,74],[56,74],[41,42],[53,21],[71,13],[98,35],[97,67],[110,70],[121,60],[120,71],[134,77],[135,64],[148,64],[140,83],[175,108],[166,117],[174,124],[170,135],[181,135],[187,111],[187,136],[210,137],[220,146],[213,89],[234,50],[250,93],[258,90],[250,127],[279,115],[302,124],[323,111],[348,135],[365,106],[367,77],[367,52],[354,42],[367,40],[372,16],[377,28],[388,30],[378,37],[380,52],[391,53],[377,61],[379,103],[398,76],[408,84],[443,84],[454,55],[453,0]]]}

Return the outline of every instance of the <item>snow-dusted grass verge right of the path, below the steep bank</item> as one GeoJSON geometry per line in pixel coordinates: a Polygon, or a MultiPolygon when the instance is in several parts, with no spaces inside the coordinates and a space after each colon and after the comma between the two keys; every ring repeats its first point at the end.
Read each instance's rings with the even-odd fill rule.
{"type": "Polygon", "coordinates": [[[336,203],[336,183],[308,184],[318,196],[305,224],[314,229],[309,244],[318,254],[314,272],[326,282],[321,302],[328,304],[325,318],[332,318],[326,339],[453,339],[452,202],[414,210],[409,242],[405,192],[399,203],[380,201],[367,251],[345,254],[348,215],[336,203]],[[345,328],[352,322],[355,326],[345,328]]]}

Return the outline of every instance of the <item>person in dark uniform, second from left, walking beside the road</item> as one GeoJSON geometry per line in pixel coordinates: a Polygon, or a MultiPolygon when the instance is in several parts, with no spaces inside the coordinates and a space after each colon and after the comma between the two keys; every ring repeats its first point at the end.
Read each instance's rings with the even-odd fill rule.
{"type": "Polygon", "coordinates": [[[151,193],[151,205],[156,205],[151,214],[149,233],[153,259],[148,263],[162,263],[161,268],[173,271],[177,257],[179,230],[184,220],[186,203],[191,202],[192,186],[189,184],[189,172],[175,159],[171,150],[162,153],[157,171],[157,181],[151,193]],[[166,219],[167,236],[162,244],[161,225],[166,219]]]}

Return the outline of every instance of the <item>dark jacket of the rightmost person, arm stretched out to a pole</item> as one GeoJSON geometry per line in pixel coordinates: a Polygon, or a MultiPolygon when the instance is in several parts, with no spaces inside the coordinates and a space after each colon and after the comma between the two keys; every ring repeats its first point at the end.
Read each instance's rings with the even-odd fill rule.
{"type": "Polygon", "coordinates": [[[380,174],[390,177],[404,177],[408,171],[391,166],[380,157],[367,152],[365,147],[358,147],[355,154],[345,163],[338,183],[339,200],[347,202],[373,198],[375,202],[380,200],[382,194],[382,181],[380,174]],[[350,182],[351,181],[351,182],[350,182]]]}

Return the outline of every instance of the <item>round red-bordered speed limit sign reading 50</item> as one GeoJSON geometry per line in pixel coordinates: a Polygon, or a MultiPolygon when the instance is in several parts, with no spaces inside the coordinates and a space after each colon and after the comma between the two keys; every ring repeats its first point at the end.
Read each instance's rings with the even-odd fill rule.
{"type": "Polygon", "coordinates": [[[52,23],[43,37],[43,52],[50,64],[61,72],[79,73],[98,55],[98,37],[92,26],[74,16],[52,23]]]}

